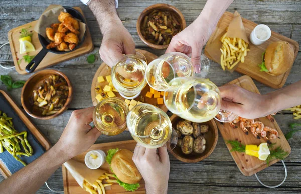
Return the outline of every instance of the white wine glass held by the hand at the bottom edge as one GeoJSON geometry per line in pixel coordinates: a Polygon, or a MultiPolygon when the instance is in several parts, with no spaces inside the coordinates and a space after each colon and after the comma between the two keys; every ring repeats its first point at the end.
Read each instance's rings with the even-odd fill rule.
{"type": "Polygon", "coordinates": [[[132,137],[143,147],[158,148],[167,143],[171,151],[177,145],[177,133],[170,118],[156,106],[144,103],[136,105],[128,113],[126,124],[132,137]]]}

